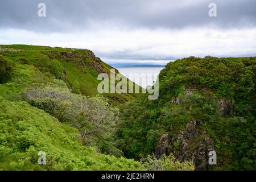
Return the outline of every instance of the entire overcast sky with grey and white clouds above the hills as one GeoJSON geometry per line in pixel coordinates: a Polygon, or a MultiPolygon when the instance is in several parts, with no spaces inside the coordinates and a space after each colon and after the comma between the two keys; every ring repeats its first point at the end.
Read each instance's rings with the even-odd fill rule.
{"type": "Polygon", "coordinates": [[[91,49],[108,63],[256,56],[255,0],[1,0],[0,44],[91,49]],[[46,4],[46,17],[38,4],[46,4]],[[210,17],[209,3],[217,16],[210,17]]]}

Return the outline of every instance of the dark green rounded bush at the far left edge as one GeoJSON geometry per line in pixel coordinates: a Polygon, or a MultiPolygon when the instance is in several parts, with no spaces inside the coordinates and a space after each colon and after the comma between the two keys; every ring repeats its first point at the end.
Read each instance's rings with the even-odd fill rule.
{"type": "Polygon", "coordinates": [[[14,64],[0,56],[0,84],[6,83],[10,80],[14,72],[14,64]]]}

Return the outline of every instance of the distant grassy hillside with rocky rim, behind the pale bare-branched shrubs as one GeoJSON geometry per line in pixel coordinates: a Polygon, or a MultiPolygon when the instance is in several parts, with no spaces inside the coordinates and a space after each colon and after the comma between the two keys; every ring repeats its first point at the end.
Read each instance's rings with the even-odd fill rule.
{"type": "MultiPolygon", "coordinates": [[[[73,92],[88,96],[98,94],[97,85],[100,82],[97,80],[98,74],[107,73],[110,75],[112,68],[94,56],[93,52],[88,49],[27,45],[0,45],[0,47],[2,48],[2,55],[9,57],[14,62],[27,59],[26,64],[34,65],[41,72],[50,72],[55,76],[56,70],[51,69],[51,66],[55,66],[52,60],[56,60],[60,63],[56,65],[56,69],[60,69],[61,72],[57,77],[64,80],[73,92]]],[[[135,94],[104,94],[104,96],[108,97],[113,104],[131,101],[136,97],[135,94]]]]}

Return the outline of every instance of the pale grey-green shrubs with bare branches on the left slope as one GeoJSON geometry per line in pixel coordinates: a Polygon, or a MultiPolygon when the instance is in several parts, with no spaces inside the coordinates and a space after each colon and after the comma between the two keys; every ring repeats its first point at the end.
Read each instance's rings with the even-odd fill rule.
{"type": "Polygon", "coordinates": [[[106,154],[122,154],[113,140],[118,110],[104,97],[81,96],[71,93],[63,85],[52,87],[49,84],[35,84],[25,89],[23,96],[31,105],[79,129],[80,135],[76,137],[81,137],[86,145],[97,146],[106,154]]]}

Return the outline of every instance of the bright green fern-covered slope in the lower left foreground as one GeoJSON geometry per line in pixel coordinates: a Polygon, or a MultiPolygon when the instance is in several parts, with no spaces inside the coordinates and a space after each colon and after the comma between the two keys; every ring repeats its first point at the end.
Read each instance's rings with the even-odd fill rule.
{"type": "Polygon", "coordinates": [[[0,170],[124,170],[139,169],[138,162],[99,154],[82,146],[72,135],[78,131],[26,102],[0,97],[0,170]],[[38,152],[46,151],[46,166],[38,152]]]}

